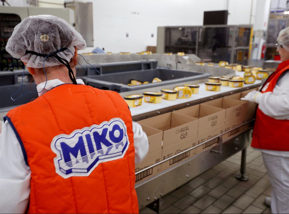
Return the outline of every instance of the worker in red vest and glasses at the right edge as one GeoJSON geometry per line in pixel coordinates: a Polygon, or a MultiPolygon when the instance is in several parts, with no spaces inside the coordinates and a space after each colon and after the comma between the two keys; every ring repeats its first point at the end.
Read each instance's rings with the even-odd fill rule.
{"type": "Polygon", "coordinates": [[[242,100],[258,103],[251,146],[262,152],[272,185],[265,204],[272,213],[289,213],[289,27],[277,38],[281,62],[260,91],[242,100]]]}

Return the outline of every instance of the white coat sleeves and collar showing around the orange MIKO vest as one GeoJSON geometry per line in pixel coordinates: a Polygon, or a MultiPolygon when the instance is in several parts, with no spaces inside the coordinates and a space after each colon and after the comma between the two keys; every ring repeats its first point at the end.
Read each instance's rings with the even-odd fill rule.
{"type": "MultiPolygon", "coordinates": [[[[81,79],[77,83],[84,84],[81,79]]],[[[48,80],[46,85],[37,85],[38,95],[63,84],[62,81],[48,80]],[[44,88],[45,85],[45,88],[44,88]],[[44,90],[42,91],[42,89],[44,90]]],[[[0,134],[0,213],[24,213],[29,202],[31,171],[26,165],[20,143],[8,121],[2,121],[0,134]]],[[[134,132],[135,163],[147,155],[147,135],[137,122],[132,122],[134,132]]],[[[49,187],[47,187],[49,188],[49,187]]]]}

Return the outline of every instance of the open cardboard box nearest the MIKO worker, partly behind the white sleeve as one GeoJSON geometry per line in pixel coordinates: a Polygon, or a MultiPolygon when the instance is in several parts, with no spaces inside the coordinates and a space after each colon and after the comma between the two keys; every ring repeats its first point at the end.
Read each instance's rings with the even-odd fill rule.
{"type": "MultiPolygon", "coordinates": [[[[135,172],[145,169],[161,161],[162,158],[162,131],[142,125],[142,130],[147,134],[149,140],[149,152],[145,159],[135,165],[135,172]]],[[[147,180],[148,178],[161,172],[161,165],[157,165],[135,176],[136,183],[147,180]]]]}

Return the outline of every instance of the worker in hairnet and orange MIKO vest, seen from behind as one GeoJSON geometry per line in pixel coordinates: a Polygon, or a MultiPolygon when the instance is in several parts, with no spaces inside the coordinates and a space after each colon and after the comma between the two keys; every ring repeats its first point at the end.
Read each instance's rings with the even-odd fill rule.
{"type": "Polygon", "coordinates": [[[135,162],[148,152],[114,91],[75,78],[82,36],[65,20],[30,16],[9,38],[39,97],[10,110],[0,134],[0,213],[138,213],[135,162]]]}

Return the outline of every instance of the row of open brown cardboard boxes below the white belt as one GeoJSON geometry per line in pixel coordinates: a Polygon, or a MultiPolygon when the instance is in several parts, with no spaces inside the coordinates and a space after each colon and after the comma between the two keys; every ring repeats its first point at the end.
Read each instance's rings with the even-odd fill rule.
{"type": "Polygon", "coordinates": [[[219,138],[212,138],[225,131],[231,130],[222,135],[223,142],[251,129],[250,124],[242,124],[255,117],[256,103],[240,100],[250,91],[137,121],[148,136],[150,151],[145,160],[136,166],[136,172],[197,144],[208,142],[140,173],[136,181],[146,180],[189,157],[212,149],[219,144],[219,138]]]}

